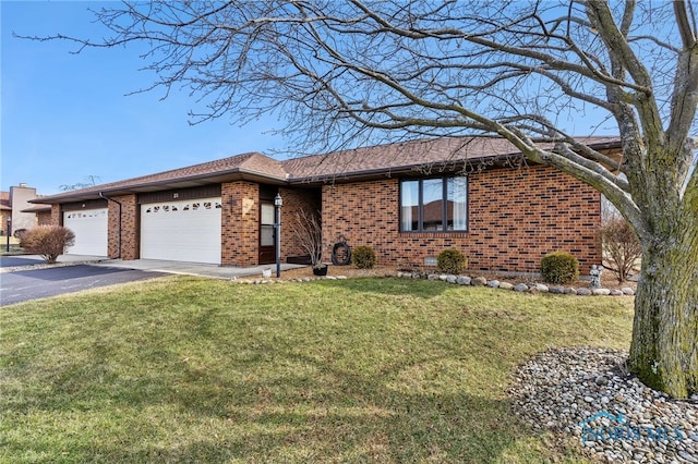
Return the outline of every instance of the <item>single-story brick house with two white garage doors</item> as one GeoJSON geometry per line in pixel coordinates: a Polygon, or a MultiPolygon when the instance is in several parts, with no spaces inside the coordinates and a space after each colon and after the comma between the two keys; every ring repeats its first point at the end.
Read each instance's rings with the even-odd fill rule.
{"type": "MultiPolygon", "coordinates": [[[[590,137],[621,154],[617,137],[590,137]]],[[[537,272],[553,251],[587,272],[601,196],[551,167],[524,160],[500,138],[437,138],[275,160],[249,152],[40,199],[51,222],[75,232],[68,253],[256,266],[275,259],[274,198],[281,222],[320,211],[324,260],[345,239],[384,265],[423,265],[445,248],[474,270],[537,272]]],[[[303,255],[281,228],[281,259],[303,255]]]]}

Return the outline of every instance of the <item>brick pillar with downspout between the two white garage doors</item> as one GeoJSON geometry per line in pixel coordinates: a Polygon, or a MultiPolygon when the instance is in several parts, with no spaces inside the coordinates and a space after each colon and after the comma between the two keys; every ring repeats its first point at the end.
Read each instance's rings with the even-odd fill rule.
{"type": "Polygon", "coordinates": [[[121,253],[119,253],[119,205],[109,202],[108,221],[109,234],[107,252],[110,258],[120,257],[123,260],[141,257],[141,211],[137,195],[123,195],[112,198],[121,204],[121,253]]]}

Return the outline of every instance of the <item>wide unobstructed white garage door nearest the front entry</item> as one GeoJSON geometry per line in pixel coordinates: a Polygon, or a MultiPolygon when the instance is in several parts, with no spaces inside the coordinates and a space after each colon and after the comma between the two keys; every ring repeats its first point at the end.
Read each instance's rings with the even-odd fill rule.
{"type": "Polygon", "coordinates": [[[220,264],[220,197],[141,205],[141,258],[220,264]]]}

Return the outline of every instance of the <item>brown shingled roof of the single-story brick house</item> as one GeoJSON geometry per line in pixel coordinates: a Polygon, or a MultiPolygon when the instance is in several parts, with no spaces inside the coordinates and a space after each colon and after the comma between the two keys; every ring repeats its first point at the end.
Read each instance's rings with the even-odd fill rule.
{"type": "MultiPolygon", "coordinates": [[[[597,149],[618,148],[617,137],[587,137],[597,149]]],[[[95,185],[41,198],[44,204],[76,202],[104,195],[185,188],[234,180],[285,185],[361,180],[426,169],[460,167],[483,159],[520,157],[508,141],[492,137],[444,137],[378,145],[277,161],[258,152],[95,185]]]]}

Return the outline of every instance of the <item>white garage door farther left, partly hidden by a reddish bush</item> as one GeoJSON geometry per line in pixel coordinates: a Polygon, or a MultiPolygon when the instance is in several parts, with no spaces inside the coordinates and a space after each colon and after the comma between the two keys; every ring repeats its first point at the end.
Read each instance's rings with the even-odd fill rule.
{"type": "Polygon", "coordinates": [[[68,255],[107,256],[107,208],[63,212],[63,225],[75,234],[68,255]]]}

